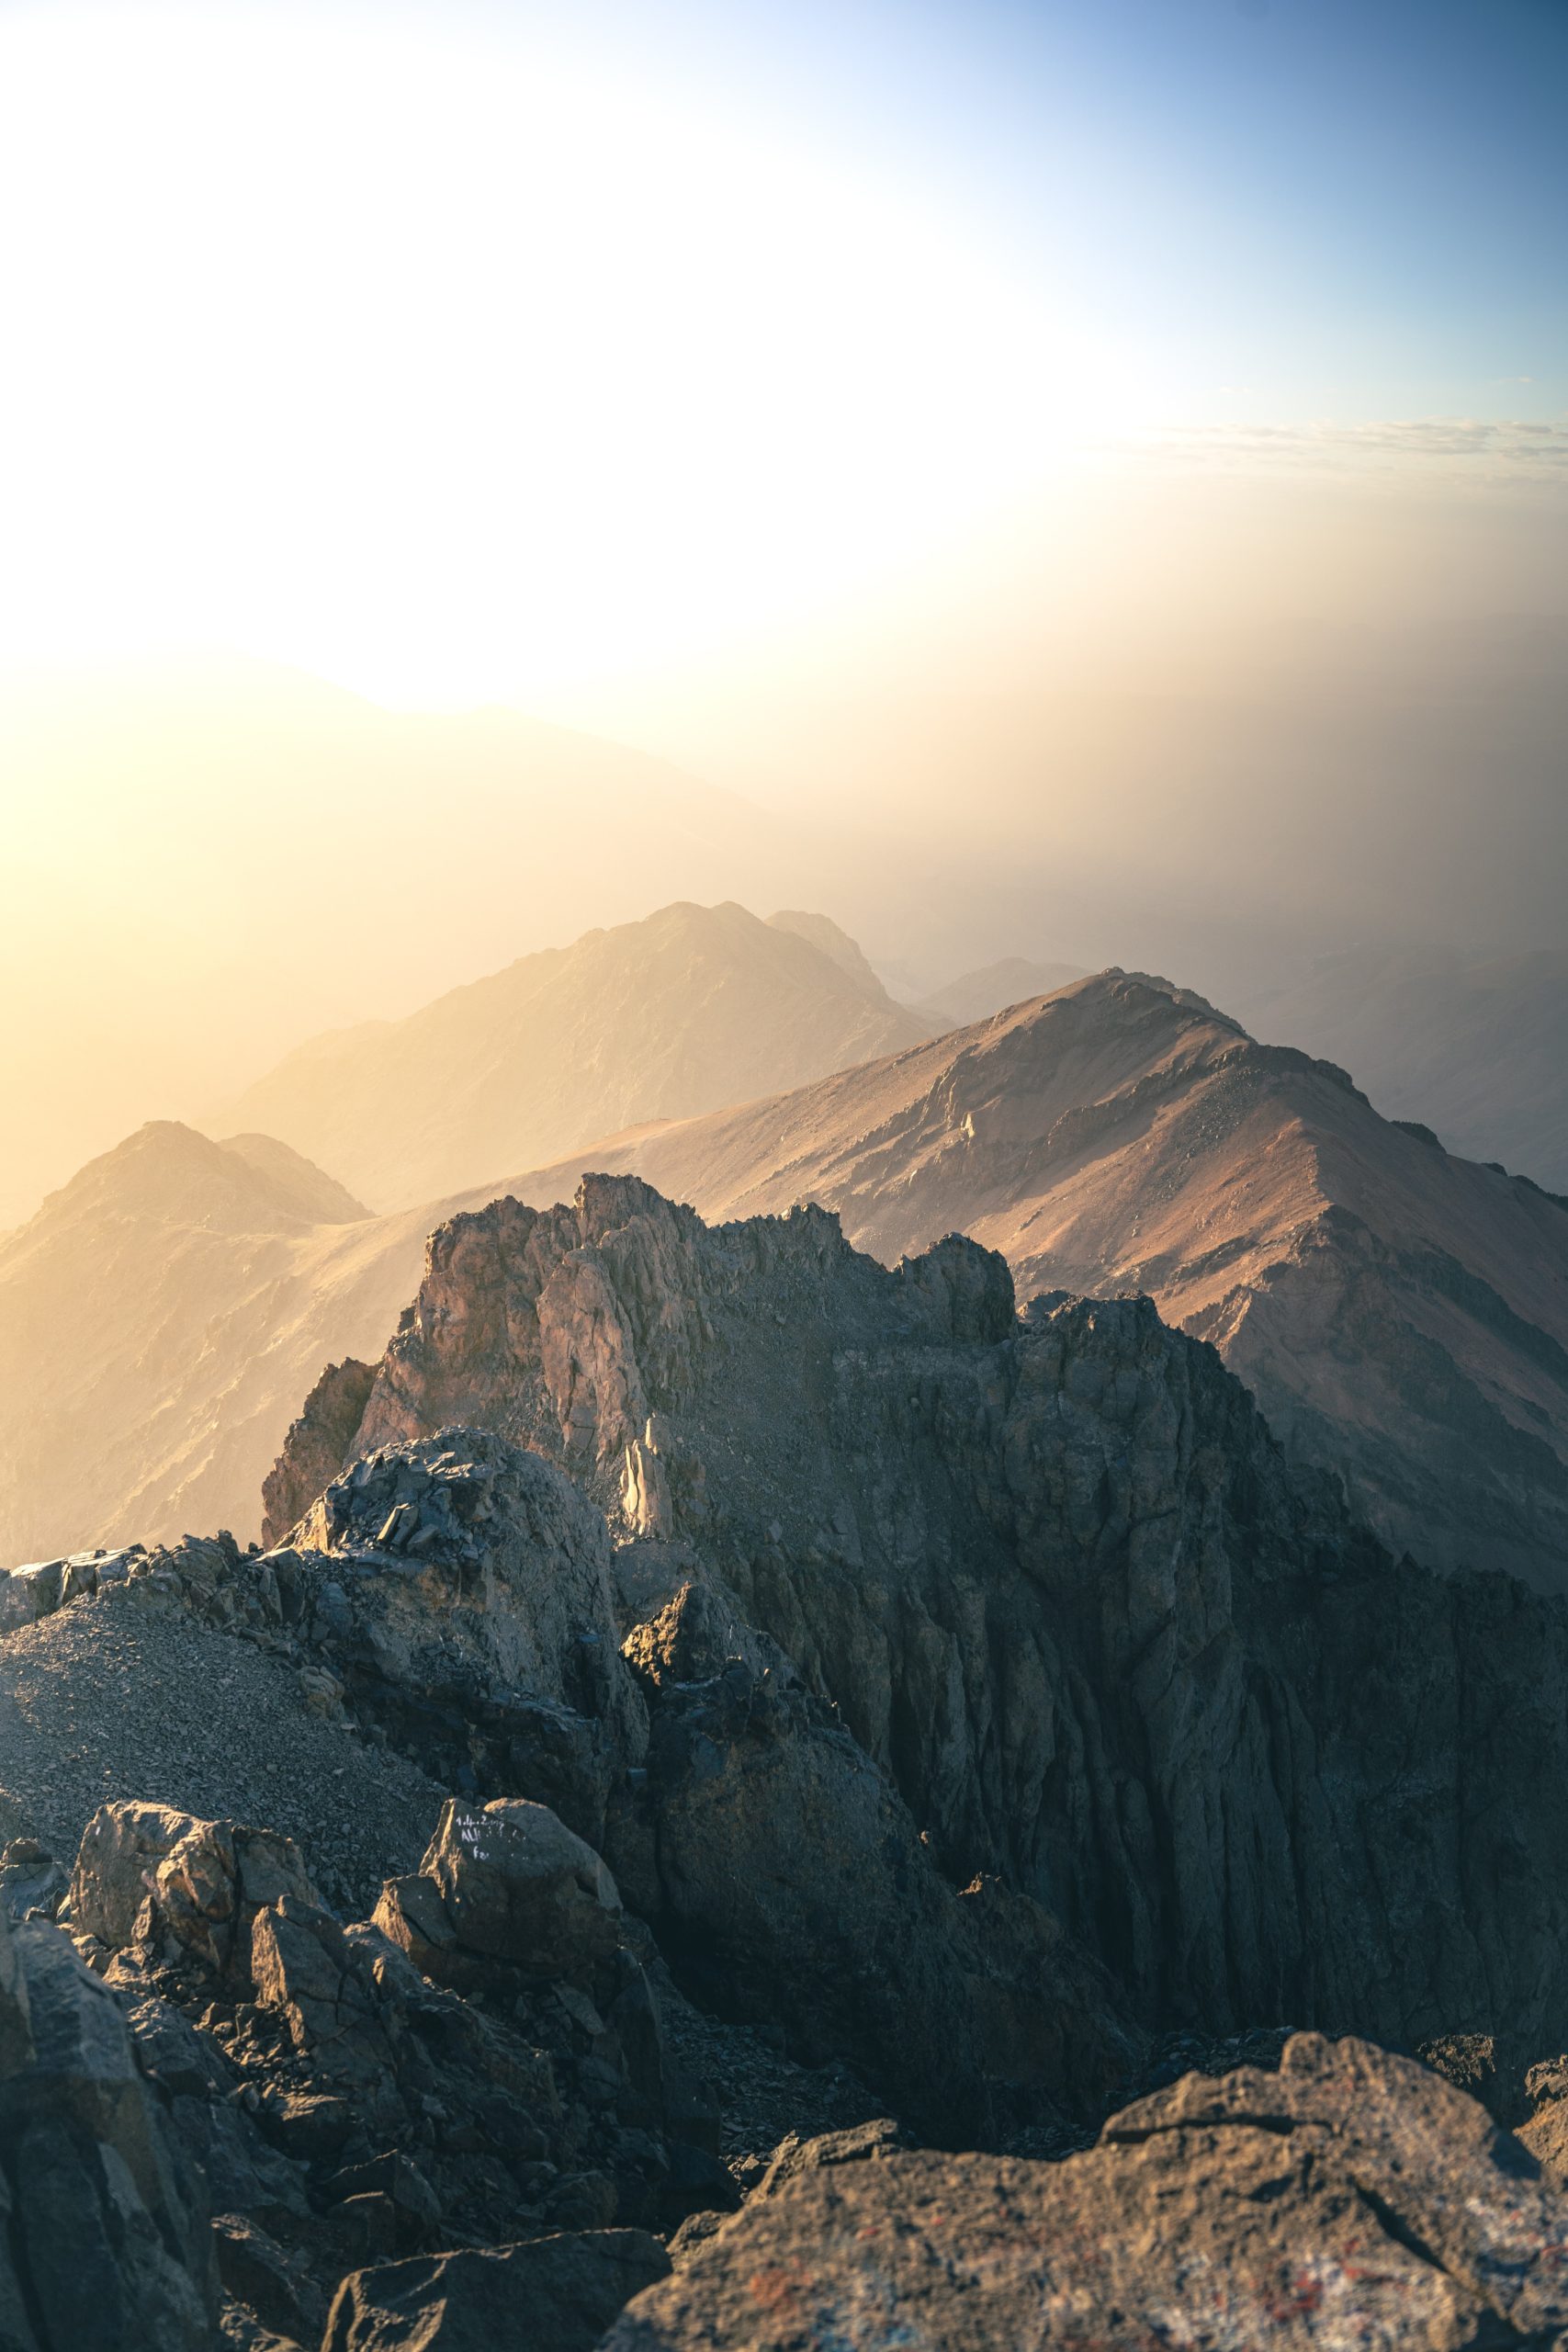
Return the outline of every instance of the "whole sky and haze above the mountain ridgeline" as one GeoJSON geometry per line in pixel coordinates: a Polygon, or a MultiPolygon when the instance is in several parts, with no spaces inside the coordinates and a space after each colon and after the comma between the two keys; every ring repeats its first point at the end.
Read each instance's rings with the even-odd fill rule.
{"type": "Polygon", "coordinates": [[[1563,0],[0,0],[52,1174],[639,889],[931,978],[1559,946],[1566,92],[1563,0]],[[599,755],[423,724],[494,706],[762,823],[567,884],[599,755]]]}

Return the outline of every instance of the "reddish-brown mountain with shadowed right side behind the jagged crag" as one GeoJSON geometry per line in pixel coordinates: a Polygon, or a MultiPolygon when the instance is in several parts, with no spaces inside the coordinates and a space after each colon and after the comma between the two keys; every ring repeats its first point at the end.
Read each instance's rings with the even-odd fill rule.
{"type": "Polygon", "coordinates": [[[816,1200],[884,1261],[964,1230],[1020,1296],[1147,1291],[1387,1541],[1568,1585],[1568,1211],[1166,981],[1100,974],[517,1190],[583,1167],[715,1218],[816,1200]]]}

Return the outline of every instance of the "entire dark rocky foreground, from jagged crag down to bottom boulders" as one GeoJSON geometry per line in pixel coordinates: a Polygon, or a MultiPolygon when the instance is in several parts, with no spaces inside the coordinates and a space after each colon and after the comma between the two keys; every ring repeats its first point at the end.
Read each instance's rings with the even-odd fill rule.
{"type": "Polygon", "coordinates": [[[590,1178],[266,1508],[0,1583],[5,2352],[1568,2340],[1568,1604],[1147,1301],[590,1178]]]}

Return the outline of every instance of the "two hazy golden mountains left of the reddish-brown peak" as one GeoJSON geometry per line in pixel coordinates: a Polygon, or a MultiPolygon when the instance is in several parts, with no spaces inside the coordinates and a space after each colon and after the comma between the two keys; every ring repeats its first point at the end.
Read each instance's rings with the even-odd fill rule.
{"type": "Polygon", "coordinates": [[[0,1566],[125,1529],[252,1536],[317,1371],[381,1352],[430,1225],[489,1200],[496,1169],[929,1025],[827,917],[672,906],[320,1040],[235,1108],[235,1127],[266,1108],[407,1209],[371,1218],[266,1134],[143,1127],[0,1235],[0,1566]]]}

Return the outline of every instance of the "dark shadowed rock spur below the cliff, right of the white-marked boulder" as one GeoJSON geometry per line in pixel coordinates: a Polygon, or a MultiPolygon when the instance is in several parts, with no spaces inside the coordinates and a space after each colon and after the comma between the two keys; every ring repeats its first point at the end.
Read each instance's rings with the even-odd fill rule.
{"type": "MultiPolygon", "coordinates": [[[[686,1606],[658,1646],[710,1665],[668,1623],[686,1606]]],[[[889,1778],[792,1675],[733,1658],[665,1679],[642,1818],[614,1851],[698,1999],[783,2025],[806,2065],[853,2056],[945,2145],[1041,2096],[1103,2112],[1138,2065],[1105,1973],[1027,1898],[954,1893],[889,1778]]]]}

